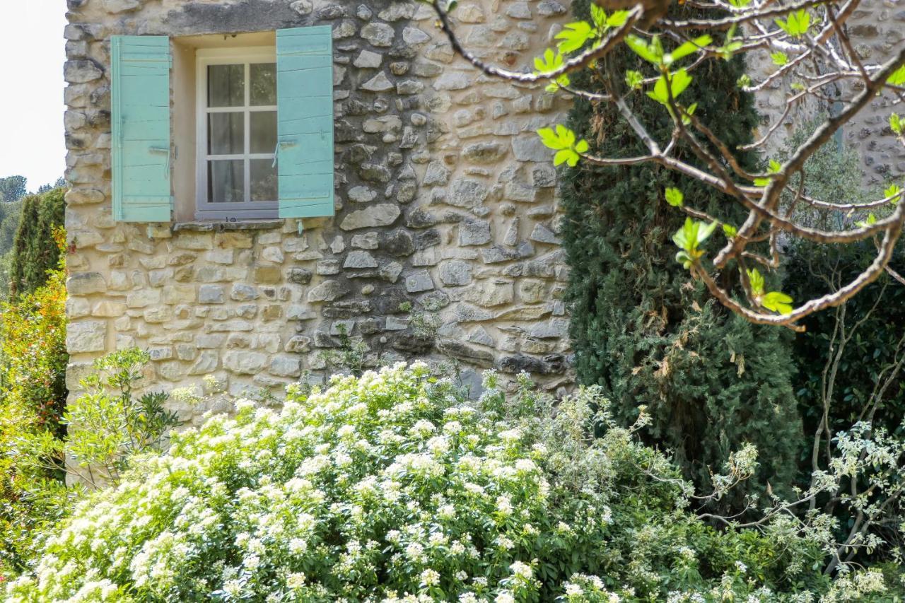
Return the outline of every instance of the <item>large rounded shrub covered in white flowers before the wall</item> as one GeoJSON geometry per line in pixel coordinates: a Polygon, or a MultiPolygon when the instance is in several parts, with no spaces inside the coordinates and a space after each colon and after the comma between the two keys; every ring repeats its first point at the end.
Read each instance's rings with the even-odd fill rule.
{"type": "MultiPolygon", "coordinates": [[[[6,601],[812,601],[791,522],[717,531],[583,390],[471,403],[424,365],[237,405],[137,459],[6,601]],[[595,410],[596,408],[596,410],[595,410]],[[595,436],[596,432],[596,436],[595,436]]],[[[881,591],[858,574],[845,593],[881,591]]],[[[843,600],[843,599],[839,599],[843,600]]],[[[845,599],[852,600],[852,599],[845,599]]],[[[863,599],[862,599],[863,600],[863,599]]],[[[879,599],[878,599],[879,600],[879,599]]]]}

